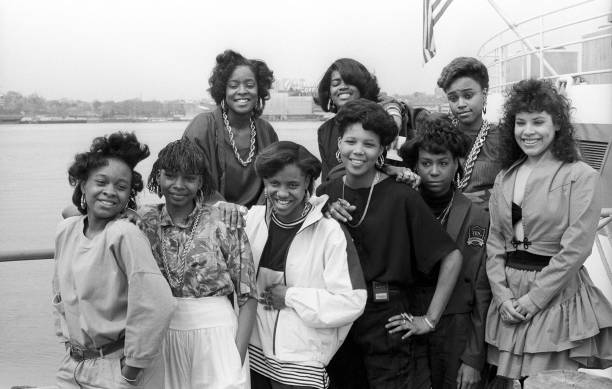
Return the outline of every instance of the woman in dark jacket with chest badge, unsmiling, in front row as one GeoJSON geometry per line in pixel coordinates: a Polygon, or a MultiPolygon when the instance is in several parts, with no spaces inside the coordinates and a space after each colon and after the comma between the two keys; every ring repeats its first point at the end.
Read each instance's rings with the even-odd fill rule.
{"type": "MultiPolygon", "coordinates": [[[[455,177],[462,177],[460,159],[469,143],[446,115],[432,114],[416,138],[399,150],[406,165],[421,176],[423,200],[463,255],[461,275],[436,330],[415,339],[415,388],[472,389],[482,384],[485,317],[491,301],[485,269],[489,215],[454,183],[455,177]]],[[[415,282],[412,314],[424,313],[431,301],[437,276],[432,273],[419,274],[415,282]]]]}

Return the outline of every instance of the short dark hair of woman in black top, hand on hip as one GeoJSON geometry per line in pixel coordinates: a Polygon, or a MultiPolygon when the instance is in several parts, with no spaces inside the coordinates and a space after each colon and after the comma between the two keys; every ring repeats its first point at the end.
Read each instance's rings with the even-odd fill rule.
{"type": "Polygon", "coordinates": [[[366,99],[349,101],[340,108],[334,120],[338,125],[340,136],[344,135],[349,125],[361,123],[364,130],[378,135],[383,147],[390,145],[397,135],[397,126],[391,115],[379,104],[366,99]]]}

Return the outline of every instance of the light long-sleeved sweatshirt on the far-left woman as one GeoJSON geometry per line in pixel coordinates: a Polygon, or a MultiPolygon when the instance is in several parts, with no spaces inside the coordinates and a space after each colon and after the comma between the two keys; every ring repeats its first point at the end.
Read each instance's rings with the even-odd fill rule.
{"type": "Polygon", "coordinates": [[[160,352],[174,299],[147,238],[124,220],[93,238],[85,216],[63,220],[55,239],[53,293],[62,341],[99,348],[125,337],[126,363],[147,367],[160,352]]]}

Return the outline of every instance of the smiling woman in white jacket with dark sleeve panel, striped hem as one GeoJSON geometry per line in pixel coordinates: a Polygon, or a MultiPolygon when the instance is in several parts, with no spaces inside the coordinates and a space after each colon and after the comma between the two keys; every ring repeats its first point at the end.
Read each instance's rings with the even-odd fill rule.
{"type": "Polygon", "coordinates": [[[274,143],[255,169],[268,200],[246,220],[263,291],[249,346],[252,385],[327,388],[325,367],[366,301],[359,259],[340,224],[323,217],[327,196],[310,195],[321,163],[305,147],[274,143]]]}

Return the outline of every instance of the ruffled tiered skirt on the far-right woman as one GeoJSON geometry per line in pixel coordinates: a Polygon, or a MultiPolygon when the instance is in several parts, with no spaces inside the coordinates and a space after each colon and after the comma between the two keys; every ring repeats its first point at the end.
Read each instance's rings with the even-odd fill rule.
{"type": "MultiPolygon", "coordinates": [[[[529,292],[537,271],[506,267],[515,297],[529,292]]],[[[582,267],[548,306],[529,321],[502,322],[493,304],[487,314],[487,360],[497,374],[521,378],[545,370],[612,366],[612,305],[582,267]]]]}

